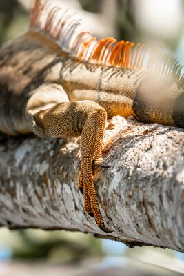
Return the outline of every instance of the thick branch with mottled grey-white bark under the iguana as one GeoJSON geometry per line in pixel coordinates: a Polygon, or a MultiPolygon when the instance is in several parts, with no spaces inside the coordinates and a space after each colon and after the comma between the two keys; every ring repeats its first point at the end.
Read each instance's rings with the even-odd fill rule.
{"type": "Polygon", "coordinates": [[[8,228],[79,230],[129,246],[184,252],[184,132],[115,117],[96,168],[103,233],[83,210],[76,139],[6,137],[0,144],[0,224],[8,228]]]}

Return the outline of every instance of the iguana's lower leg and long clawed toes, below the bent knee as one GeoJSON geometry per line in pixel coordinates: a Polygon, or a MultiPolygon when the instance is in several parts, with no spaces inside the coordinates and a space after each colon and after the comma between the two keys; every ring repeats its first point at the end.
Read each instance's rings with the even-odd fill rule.
{"type": "Polygon", "coordinates": [[[96,198],[96,190],[94,185],[93,167],[94,164],[103,168],[109,168],[110,165],[103,163],[102,158],[102,140],[105,128],[106,112],[99,107],[93,109],[83,126],[81,135],[81,174],[79,176],[79,189],[84,195],[84,209],[90,216],[94,216],[96,225],[101,230],[110,233],[105,228],[103,217],[96,198]]]}

